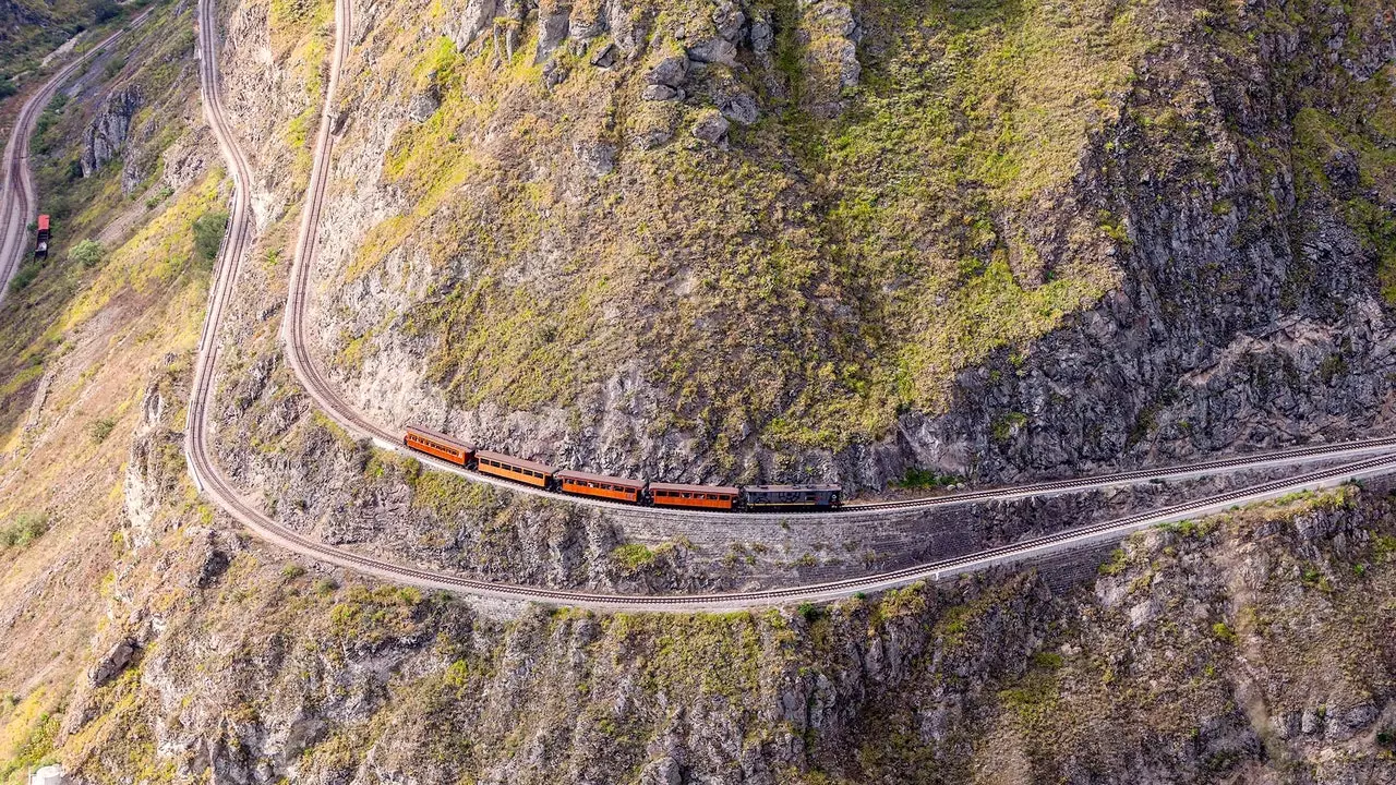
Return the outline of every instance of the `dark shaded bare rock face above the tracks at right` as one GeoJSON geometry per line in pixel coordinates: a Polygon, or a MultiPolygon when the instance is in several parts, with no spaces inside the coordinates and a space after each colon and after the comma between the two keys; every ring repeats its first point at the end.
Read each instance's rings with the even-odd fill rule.
{"type": "MultiPolygon", "coordinates": [[[[1333,31],[1356,24],[1328,15],[1333,31]]],[[[1354,60],[1396,61],[1393,29],[1376,20],[1354,60]]],[[[1248,141],[1307,155],[1291,95],[1263,74],[1328,63],[1336,43],[1272,32],[1249,56],[1219,50],[1201,71],[1167,54],[1142,63],[1127,116],[1082,162],[1074,189],[1076,198],[1103,194],[1103,221],[1118,222],[1120,289],[1026,358],[1002,352],[960,374],[949,415],[903,416],[896,447],[864,453],[843,476],[877,483],[896,474],[878,465],[896,455],[898,467],[1012,480],[1389,429],[1396,324],[1376,281],[1379,256],[1342,205],[1367,198],[1389,211],[1390,189],[1357,186],[1349,151],[1328,154],[1321,183],[1248,141]],[[1191,122],[1203,141],[1180,152],[1138,117],[1184,99],[1198,102],[1191,122]],[[1012,412],[1025,426],[994,439],[991,426],[1012,412]]],[[[1365,68],[1298,70],[1305,89],[1332,101],[1318,112],[1360,105],[1365,68]]]]}

